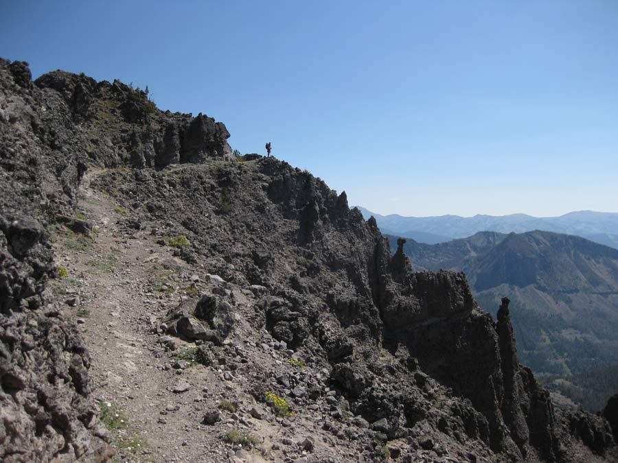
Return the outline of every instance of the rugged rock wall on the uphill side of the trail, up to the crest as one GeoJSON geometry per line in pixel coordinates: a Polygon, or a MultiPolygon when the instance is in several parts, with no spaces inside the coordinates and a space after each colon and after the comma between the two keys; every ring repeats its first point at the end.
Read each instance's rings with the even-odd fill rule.
{"type": "Polygon", "coordinates": [[[87,226],[67,217],[87,164],[225,158],[228,136],[222,123],[163,113],[120,82],[62,71],[32,82],[25,62],[0,59],[0,460],[109,453],[89,400],[87,349],[45,298],[57,271],[45,225],[87,226]]]}

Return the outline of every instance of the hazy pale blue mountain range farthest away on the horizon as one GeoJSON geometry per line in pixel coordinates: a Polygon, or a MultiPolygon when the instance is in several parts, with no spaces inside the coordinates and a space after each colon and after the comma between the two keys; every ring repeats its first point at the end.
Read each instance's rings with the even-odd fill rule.
{"type": "Polygon", "coordinates": [[[560,215],[560,217],[532,217],[526,214],[404,217],[397,214],[376,214],[361,206],[358,206],[358,209],[361,210],[365,219],[371,215],[376,217],[382,233],[408,237],[426,244],[469,237],[479,231],[525,233],[545,230],[580,236],[618,249],[618,213],[578,211],[560,215]]]}

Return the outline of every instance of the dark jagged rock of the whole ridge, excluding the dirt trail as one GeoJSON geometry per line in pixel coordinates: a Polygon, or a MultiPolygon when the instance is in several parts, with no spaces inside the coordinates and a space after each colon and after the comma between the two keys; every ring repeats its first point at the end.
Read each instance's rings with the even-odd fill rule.
{"type": "MultiPolygon", "coordinates": [[[[45,298],[56,269],[44,226],[88,228],[71,216],[89,163],[108,168],[93,187],[126,208],[123,233],[175,237],[177,256],[211,275],[155,323],[155,357],[191,342],[220,381],[242,378],[262,405],[230,420],[275,420],[265,410],[283,407],[276,396],[319,423],[283,442],[293,450],[273,444],[286,461],[337,461],[328,449],[339,445],[339,461],[385,449],[404,462],[616,460],[608,421],[554,409],[518,363],[507,300],[496,324],[464,274],[412,272],[403,242],[391,257],[345,193],[274,158],[236,160],[221,123],[161,112],[120,82],[62,71],[32,82],[27,65],[3,60],[0,91],[3,460],[108,453],[87,350],[45,298]]],[[[218,398],[205,400],[216,427],[218,398]]]]}

